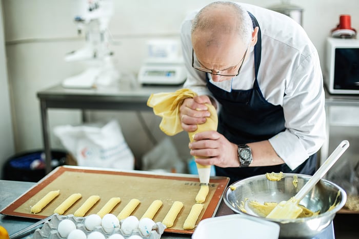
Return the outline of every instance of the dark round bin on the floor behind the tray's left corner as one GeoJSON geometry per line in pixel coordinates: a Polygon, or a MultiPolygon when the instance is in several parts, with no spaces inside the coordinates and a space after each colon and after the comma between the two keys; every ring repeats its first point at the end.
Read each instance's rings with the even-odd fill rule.
{"type": "MultiPolygon", "coordinates": [[[[52,169],[65,165],[67,152],[51,151],[52,169]]],[[[32,151],[10,157],[3,167],[3,179],[12,181],[38,182],[46,175],[45,152],[32,151]]]]}

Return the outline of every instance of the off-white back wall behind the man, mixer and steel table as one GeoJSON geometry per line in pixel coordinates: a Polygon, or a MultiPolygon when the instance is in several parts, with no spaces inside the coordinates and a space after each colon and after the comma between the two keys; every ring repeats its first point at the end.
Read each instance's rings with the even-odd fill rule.
{"type": "MultiPolygon", "coordinates": [[[[15,149],[17,152],[43,147],[39,103],[36,92],[61,83],[68,76],[80,73],[79,63],[65,63],[65,53],[83,46],[73,23],[75,0],[2,0],[5,12],[5,39],[8,70],[12,88],[15,149]]],[[[146,41],[151,38],[179,38],[179,26],[192,9],[200,8],[209,0],[114,0],[115,15],[109,29],[119,45],[112,45],[119,71],[136,74],[146,56],[146,41]]],[[[246,3],[268,7],[279,0],[246,0],[246,3]]],[[[320,52],[324,63],[325,38],[336,26],[340,14],[352,16],[352,27],[359,30],[359,2],[347,0],[291,1],[304,8],[303,27],[320,52]]],[[[280,27],[280,26],[278,26],[280,27]]],[[[158,117],[143,113],[158,140],[164,134],[158,130],[158,117]]],[[[126,140],[138,158],[152,145],[138,124],[133,112],[101,112],[94,120],[116,117],[121,123],[126,140]]],[[[70,110],[50,110],[50,126],[80,123],[80,113],[70,110]]],[[[9,127],[11,128],[11,127],[9,127]]],[[[187,136],[173,137],[182,154],[188,156],[187,136]]],[[[59,142],[51,136],[51,144],[59,142]]]]}

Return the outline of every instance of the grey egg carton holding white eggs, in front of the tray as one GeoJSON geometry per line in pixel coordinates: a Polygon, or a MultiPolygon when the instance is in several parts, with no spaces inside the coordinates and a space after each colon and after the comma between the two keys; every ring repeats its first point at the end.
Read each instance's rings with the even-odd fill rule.
{"type": "Polygon", "coordinates": [[[62,237],[60,235],[60,233],[57,231],[58,228],[58,224],[65,220],[71,220],[75,225],[76,225],[76,229],[82,230],[83,232],[85,232],[86,236],[88,236],[90,233],[92,232],[101,232],[105,238],[108,238],[109,236],[111,236],[112,234],[120,234],[125,238],[129,238],[130,236],[133,235],[138,235],[140,237],[142,237],[143,239],[159,239],[161,238],[161,235],[163,234],[166,226],[160,222],[157,222],[155,227],[152,229],[152,231],[150,232],[149,235],[144,236],[141,231],[139,231],[138,229],[134,229],[132,230],[132,232],[130,234],[126,234],[123,232],[123,230],[121,229],[121,224],[124,220],[120,221],[120,226],[114,228],[114,230],[111,233],[108,233],[104,230],[104,228],[102,226],[96,226],[92,231],[88,230],[85,227],[85,220],[86,217],[75,217],[74,215],[58,215],[58,214],[54,214],[49,221],[46,221],[42,228],[38,228],[34,231],[32,238],[33,239],[66,239],[66,237],[62,237]]]}

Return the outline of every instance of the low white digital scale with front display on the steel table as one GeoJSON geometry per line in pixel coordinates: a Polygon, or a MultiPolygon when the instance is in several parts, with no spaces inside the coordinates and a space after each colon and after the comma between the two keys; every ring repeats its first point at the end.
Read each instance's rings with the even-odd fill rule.
{"type": "Polygon", "coordinates": [[[187,73],[182,61],[150,61],[138,72],[138,82],[143,85],[181,85],[187,73]]]}

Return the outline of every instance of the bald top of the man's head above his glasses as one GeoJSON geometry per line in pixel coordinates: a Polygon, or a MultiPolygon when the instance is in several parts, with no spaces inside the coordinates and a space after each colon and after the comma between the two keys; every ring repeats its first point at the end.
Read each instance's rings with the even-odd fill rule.
{"type": "Polygon", "coordinates": [[[224,44],[228,37],[239,37],[248,45],[252,31],[251,18],[242,7],[231,2],[213,2],[194,17],[191,34],[192,38],[201,37],[206,45],[224,44]]]}

